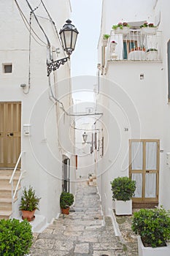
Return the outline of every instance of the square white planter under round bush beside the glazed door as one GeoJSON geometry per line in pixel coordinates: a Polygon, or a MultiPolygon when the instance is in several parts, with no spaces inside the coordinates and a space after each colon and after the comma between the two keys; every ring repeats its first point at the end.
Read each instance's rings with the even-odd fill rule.
{"type": "Polygon", "coordinates": [[[131,215],[132,214],[132,200],[121,201],[115,200],[116,215],[131,215]]]}

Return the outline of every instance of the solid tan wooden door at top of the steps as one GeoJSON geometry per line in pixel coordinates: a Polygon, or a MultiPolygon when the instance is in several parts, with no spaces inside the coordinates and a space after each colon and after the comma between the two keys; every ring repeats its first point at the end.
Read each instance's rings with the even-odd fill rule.
{"type": "Polygon", "coordinates": [[[15,167],[20,155],[21,103],[0,102],[0,167],[15,167]]]}

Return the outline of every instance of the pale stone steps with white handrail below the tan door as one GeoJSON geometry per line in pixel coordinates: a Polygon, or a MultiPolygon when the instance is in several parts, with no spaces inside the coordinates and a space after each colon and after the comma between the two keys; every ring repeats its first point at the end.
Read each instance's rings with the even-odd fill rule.
{"type": "MultiPolygon", "coordinates": [[[[13,170],[0,169],[0,219],[9,219],[12,214],[12,192],[11,184],[9,180],[12,176],[13,170]]],[[[16,170],[13,179],[14,191],[18,184],[18,178],[20,177],[20,170],[16,170]]],[[[18,187],[20,189],[20,185],[18,187]]],[[[18,199],[17,194],[15,201],[18,199]]]]}

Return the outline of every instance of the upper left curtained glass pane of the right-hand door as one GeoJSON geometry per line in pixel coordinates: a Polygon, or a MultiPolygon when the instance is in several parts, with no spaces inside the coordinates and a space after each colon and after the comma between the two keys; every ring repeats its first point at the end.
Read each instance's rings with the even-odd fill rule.
{"type": "Polygon", "coordinates": [[[132,142],[131,143],[131,161],[132,170],[142,170],[143,169],[143,143],[142,142],[132,142]]]}

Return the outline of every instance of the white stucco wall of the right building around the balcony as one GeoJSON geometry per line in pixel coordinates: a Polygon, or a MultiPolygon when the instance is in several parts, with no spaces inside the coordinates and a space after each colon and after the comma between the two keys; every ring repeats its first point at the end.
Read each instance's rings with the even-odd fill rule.
{"type": "MultiPolygon", "coordinates": [[[[108,129],[109,143],[108,151],[105,151],[105,156],[98,165],[98,172],[107,170],[112,164],[98,177],[103,208],[105,213],[109,214],[109,208],[112,206],[112,192],[108,185],[110,181],[116,176],[128,175],[130,138],[160,139],[159,204],[170,208],[167,200],[167,195],[170,195],[169,167],[166,165],[166,152],[170,151],[167,104],[167,42],[170,32],[166,30],[166,24],[169,23],[166,12],[169,9],[169,1],[162,4],[161,1],[104,0],[103,4],[101,35],[109,34],[112,25],[119,21],[147,20],[156,23],[161,17],[159,30],[162,30],[163,36],[163,61],[110,61],[107,63],[107,74],[101,76],[98,104],[99,108],[103,105],[102,121],[108,129]],[[140,80],[140,74],[144,74],[143,80],[140,80]],[[124,128],[128,128],[128,131],[125,132],[124,128]]],[[[101,63],[101,42],[98,44],[98,56],[98,63],[101,63]]]]}

